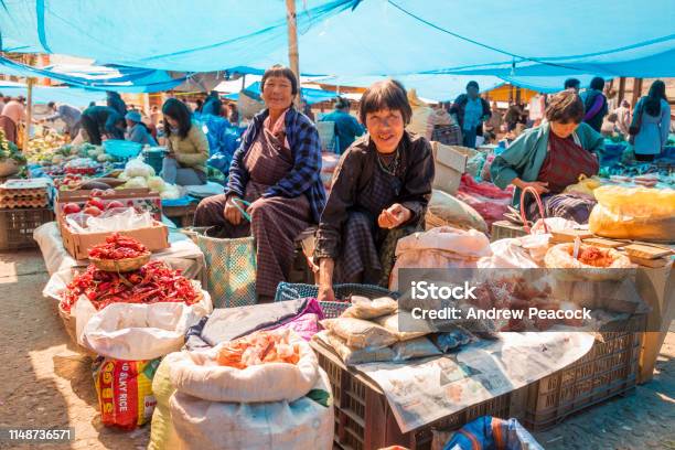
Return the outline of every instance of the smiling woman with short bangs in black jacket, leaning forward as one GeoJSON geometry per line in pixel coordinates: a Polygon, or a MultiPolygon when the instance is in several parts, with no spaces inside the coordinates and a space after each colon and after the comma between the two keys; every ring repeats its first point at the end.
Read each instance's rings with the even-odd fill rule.
{"type": "Polygon", "coordinates": [[[397,240],[422,229],[433,158],[429,141],[405,130],[411,115],[393,79],[361,98],[367,135],[342,156],[317,231],[320,300],[334,299],[333,283],[387,286],[397,240]]]}

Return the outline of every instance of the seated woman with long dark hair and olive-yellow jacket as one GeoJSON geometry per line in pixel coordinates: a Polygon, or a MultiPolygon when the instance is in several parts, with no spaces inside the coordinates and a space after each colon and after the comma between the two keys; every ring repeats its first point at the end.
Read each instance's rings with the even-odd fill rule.
{"type": "Polygon", "coordinates": [[[188,106],[169,98],[162,106],[167,150],[162,163],[162,179],[180,186],[206,184],[208,140],[202,127],[192,120],[188,106]]]}

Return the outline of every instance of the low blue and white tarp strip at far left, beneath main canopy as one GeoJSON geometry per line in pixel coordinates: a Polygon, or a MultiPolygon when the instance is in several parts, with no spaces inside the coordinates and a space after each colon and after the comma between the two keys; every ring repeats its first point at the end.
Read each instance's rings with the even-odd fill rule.
{"type": "Polygon", "coordinates": [[[169,90],[185,81],[172,78],[164,71],[122,66],[51,66],[32,67],[0,56],[0,74],[21,77],[46,77],[71,86],[124,93],[169,90]]]}

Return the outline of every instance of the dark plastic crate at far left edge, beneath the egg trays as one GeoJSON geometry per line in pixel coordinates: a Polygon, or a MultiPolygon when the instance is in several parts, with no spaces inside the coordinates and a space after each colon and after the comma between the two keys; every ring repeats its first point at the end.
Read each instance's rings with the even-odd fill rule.
{"type": "Polygon", "coordinates": [[[0,210],[0,250],[38,247],[33,232],[53,219],[54,213],[46,207],[0,210]]]}

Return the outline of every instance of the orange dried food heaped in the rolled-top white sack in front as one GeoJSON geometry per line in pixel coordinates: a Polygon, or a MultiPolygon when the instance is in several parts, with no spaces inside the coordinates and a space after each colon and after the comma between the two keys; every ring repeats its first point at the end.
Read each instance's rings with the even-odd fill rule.
{"type": "Polygon", "coordinates": [[[222,366],[246,368],[267,363],[298,364],[300,349],[290,342],[290,330],[259,331],[222,344],[217,362],[222,366]]]}

